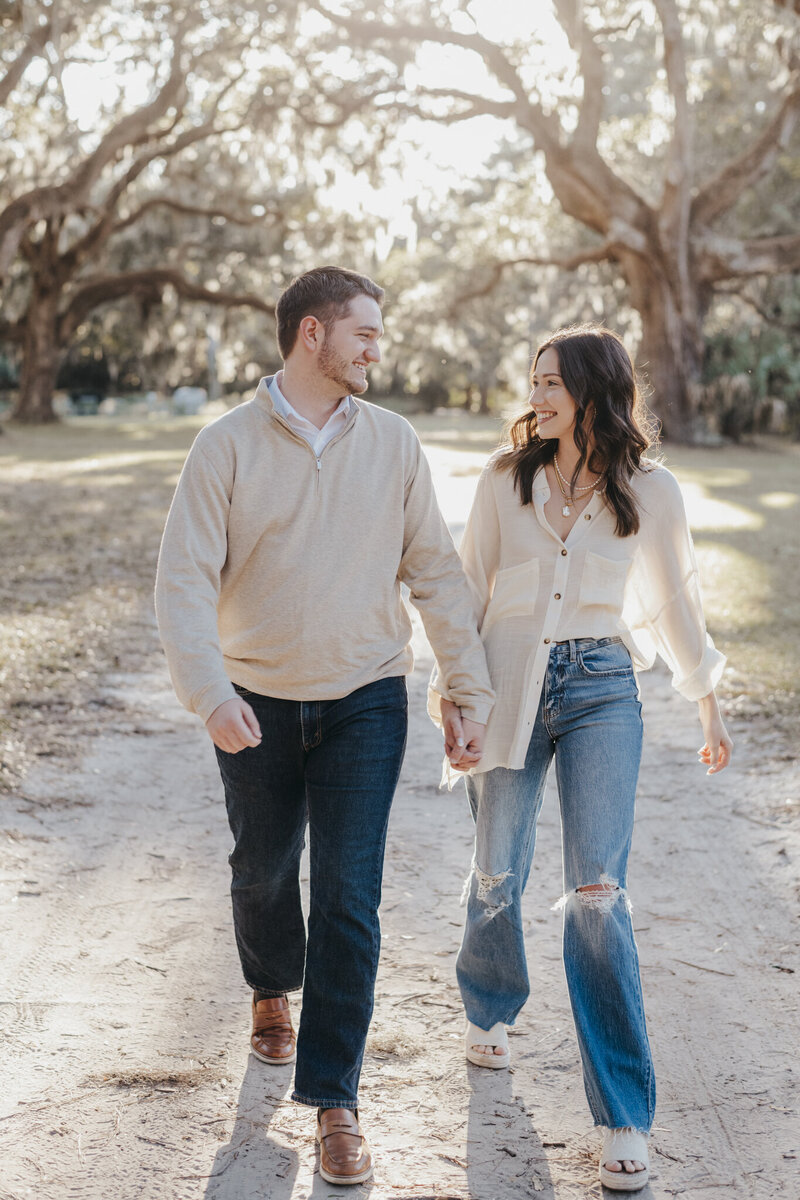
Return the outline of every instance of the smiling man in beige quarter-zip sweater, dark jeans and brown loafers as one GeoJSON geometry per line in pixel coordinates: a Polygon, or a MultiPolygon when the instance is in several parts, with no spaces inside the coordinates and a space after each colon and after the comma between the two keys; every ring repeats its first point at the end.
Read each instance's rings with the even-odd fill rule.
{"type": "Polygon", "coordinates": [[[272,1066],[296,1058],[293,1098],[318,1109],[329,1183],[372,1174],[357,1086],[405,748],[413,660],[401,581],[461,709],[445,734],[463,769],[480,758],[494,698],[416,434],[355,398],[380,359],[383,295],[332,266],[287,288],[277,305],[283,371],[199,433],[156,582],[175,690],[205,721],[224,784],[251,1049],[272,1066]],[[295,1049],[287,994],[301,988],[295,1049]]]}

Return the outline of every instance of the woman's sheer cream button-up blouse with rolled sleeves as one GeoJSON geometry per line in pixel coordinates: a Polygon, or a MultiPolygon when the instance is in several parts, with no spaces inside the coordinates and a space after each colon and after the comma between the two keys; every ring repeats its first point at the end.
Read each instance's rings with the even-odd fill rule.
{"type": "MultiPolygon", "coordinates": [[[[534,479],[534,503],[523,506],[512,473],[495,463],[497,456],[479,480],[461,545],[497,692],[475,769],[524,766],[553,642],[619,636],[636,668],[651,667],[658,654],[682,696],[706,696],[726,660],[705,631],[675,476],[655,463],[636,473],[637,534],[618,536],[613,510],[595,492],[561,541],[545,516],[545,472],[534,479]]],[[[428,690],[437,724],[440,696],[447,680],[437,667],[428,690]]]]}

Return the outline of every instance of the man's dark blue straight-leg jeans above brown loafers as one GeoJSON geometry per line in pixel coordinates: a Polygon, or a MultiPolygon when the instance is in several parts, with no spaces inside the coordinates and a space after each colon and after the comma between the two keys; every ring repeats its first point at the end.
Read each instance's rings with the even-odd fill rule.
{"type": "Polygon", "coordinates": [[[236,690],[261,727],[258,746],[235,755],[217,749],[242,971],[261,992],[302,988],[293,1098],[355,1109],[380,952],[386,826],[405,750],[405,679],[313,702],[236,690]]]}

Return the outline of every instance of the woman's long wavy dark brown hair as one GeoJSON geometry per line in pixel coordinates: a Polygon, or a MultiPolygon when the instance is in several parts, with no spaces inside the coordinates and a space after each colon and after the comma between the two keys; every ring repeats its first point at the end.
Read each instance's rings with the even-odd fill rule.
{"type": "MultiPolygon", "coordinates": [[[[656,439],[631,355],[616,334],[602,325],[559,329],[539,347],[531,382],[540,356],[551,348],[558,354],[559,373],[577,408],[573,437],[579,458],[571,482],[577,482],[584,466],[602,475],[606,500],[616,516],[616,534],[627,538],[639,529],[631,479],[656,439]]],[[[533,409],[512,422],[509,437],[511,445],[500,451],[495,466],[513,473],[522,504],[530,504],[534,476],[553,461],[558,442],[540,438],[533,409]]]]}

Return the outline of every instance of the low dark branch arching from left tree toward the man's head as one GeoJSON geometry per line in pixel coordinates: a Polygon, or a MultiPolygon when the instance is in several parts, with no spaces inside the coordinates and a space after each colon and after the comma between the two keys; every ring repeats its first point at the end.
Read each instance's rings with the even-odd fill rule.
{"type": "Polygon", "coordinates": [[[140,271],[125,271],[120,275],[95,275],[83,280],[76,287],[67,308],[61,314],[59,328],[61,343],[68,342],[78,325],[101,305],[125,296],[138,296],[151,302],[160,302],[168,287],[173,287],[185,300],[203,300],[223,308],[239,306],[257,308],[270,317],[275,316],[275,305],[267,304],[260,296],[213,290],[199,283],[192,283],[178,268],[160,266],[140,271]]]}

